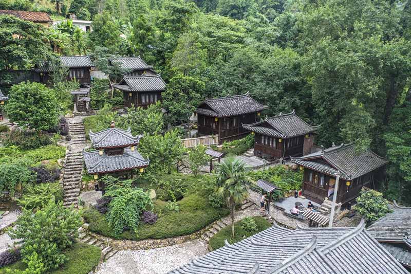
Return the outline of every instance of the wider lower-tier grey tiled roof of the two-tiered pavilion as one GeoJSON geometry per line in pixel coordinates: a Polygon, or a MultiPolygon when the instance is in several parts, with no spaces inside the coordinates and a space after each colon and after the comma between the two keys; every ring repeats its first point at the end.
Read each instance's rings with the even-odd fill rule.
{"type": "Polygon", "coordinates": [[[100,155],[99,151],[86,152],[83,150],[83,157],[87,172],[90,174],[143,168],[150,163],[136,149],[132,151],[130,148],[125,148],[122,155],[113,156],[108,156],[105,153],[100,155]]]}

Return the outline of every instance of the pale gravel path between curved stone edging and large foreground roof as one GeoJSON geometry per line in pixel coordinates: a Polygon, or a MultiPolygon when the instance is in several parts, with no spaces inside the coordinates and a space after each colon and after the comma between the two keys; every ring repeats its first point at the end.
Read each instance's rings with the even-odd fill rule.
{"type": "Polygon", "coordinates": [[[96,274],[163,274],[208,252],[199,240],[149,250],[119,251],[96,274]]]}

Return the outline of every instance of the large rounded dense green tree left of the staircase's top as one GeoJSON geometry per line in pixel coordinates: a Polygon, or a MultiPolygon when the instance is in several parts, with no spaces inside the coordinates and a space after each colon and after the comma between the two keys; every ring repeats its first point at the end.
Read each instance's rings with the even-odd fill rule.
{"type": "Polygon", "coordinates": [[[5,109],[10,121],[43,131],[54,127],[60,114],[60,105],[53,91],[40,83],[13,85],[5,109]]]}

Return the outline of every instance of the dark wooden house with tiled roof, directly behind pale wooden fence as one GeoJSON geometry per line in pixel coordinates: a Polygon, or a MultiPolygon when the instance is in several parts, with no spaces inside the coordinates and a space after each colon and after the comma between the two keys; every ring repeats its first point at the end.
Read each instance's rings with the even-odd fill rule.
{"type": "Polygon", "coordinates": [[[261,111],[266,109],[250,95],[236,95],[206,99],[195,113],[197,114],[198,134],[217,135],[219,143],[239,139],[250,133],[242,123],[255,123],[261,111]]]}

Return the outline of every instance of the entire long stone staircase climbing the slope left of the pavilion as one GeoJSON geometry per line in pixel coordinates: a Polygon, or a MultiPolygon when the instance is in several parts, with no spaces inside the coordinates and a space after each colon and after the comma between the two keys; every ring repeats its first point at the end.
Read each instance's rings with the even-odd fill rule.
{"type": "Polygon", "coordinates": [[[81,173],[83,171],[82,150],[86,145],[86,135],[82,117],[68,119],[69,152],[66,154],[66,163],[63,173],[63,204],[78,206],[81,190],[81,173]]]}

